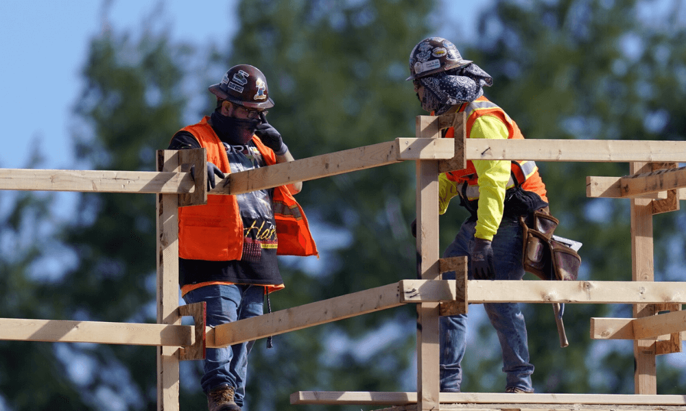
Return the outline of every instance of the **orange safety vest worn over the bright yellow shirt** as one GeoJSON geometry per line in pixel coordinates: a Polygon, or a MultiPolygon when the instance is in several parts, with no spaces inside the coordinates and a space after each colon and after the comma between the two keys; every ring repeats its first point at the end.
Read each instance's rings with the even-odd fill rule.
{"type": "MultiPolygon", "coordinates": [[[[467,113],[467,124],[466,124],[466,136],[469,138],[471,134],[471,128],[474,121],[480,116],[494,116],[495,118],[502,121],[506,127],[508,127],[508,138],[524,138],[524,136],[519,131],[517,123],[510,119],[510,116],[503,109],[499,108],[494,103],[491,103],[486,99],[486,97],[479,97],[478,99],[472,101],[471,103],[464,103],[458,112],[467,113]]],[[[450,127],[446,134],[446,138],[455,137],[455,129],[450,127]]],[[[539,168],[533,161],[517,161],[517,164],[512,163],[512,173],[517,177],[517,180],[521,183],[521,187],[524,190],[532,191],[538,194],[543,201],[548,201],[545,197],[545,184],[539,175],[539,168]],[[519,166],[517,165],[519,164],[519,166]]],[[[468,184],[466,188],[467,198],[469,200],[474,200],[479,197],[479,177],[477,176],[474,163],[471,160],[467,160],[466,169],[449,171],[446,173],[449,180],[453,182],[466,182],[468,184]]],[[[508,182],[508,188],[514,186],[514,180],[510,175],[510,182],[508,182]]]]}

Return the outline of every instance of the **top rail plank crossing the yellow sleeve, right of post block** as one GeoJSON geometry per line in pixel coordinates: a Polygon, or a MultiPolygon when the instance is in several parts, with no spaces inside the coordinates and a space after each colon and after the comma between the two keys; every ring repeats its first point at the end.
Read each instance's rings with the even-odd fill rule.
{"type": "Polygon", "coordinates": [[[467,160],[684,162],[686,141],[467,138],[467,160]]]}

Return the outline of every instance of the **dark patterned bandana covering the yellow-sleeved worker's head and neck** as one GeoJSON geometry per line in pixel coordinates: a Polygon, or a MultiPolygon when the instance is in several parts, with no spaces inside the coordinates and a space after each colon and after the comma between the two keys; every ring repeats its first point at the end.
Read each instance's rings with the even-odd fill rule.
{"type": "Polygon", "coordinates": [[[484,86],[493,86],[493,77],[474,63],[417,80],[424,86],[422,108],[437,116],[453,105],[471,103],[484,95],[484,86]]]}

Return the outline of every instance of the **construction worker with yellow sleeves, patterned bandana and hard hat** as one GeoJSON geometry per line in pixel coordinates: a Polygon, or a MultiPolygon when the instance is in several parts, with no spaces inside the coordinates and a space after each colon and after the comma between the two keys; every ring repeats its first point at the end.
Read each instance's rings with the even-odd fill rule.
{"type": "MultiPolygon", "coordinates": [[[[422,108],[431,115],[466,112],[467,138],[523,138],[517,123],[484,97],[493,78],[464,60],[445,38],[419,42],[410,53],[410,77],[422,108]]],[[[452,138],[449,128],[444,137],[452,138]]],[[[444,258],[469,257],[469,279],[521,279],[522,229],[519,216],[547,207],[545,185],[534,162],[468,161],[464,170],[439,176],[439,213],[452,197],[470,212],[444,258]]],[[[416,232],[416,221],[413,223],[416,232]]],[[[454,279],[446,273],[444,279],[454,279]]],[[[507,393],[532,393],[524,316],[517,303],[485,303],[503,353],[507,393]]],[[[440,390],[459,393],[460,362],[466,349],[466,314],[440,318],[440,390]]]]}

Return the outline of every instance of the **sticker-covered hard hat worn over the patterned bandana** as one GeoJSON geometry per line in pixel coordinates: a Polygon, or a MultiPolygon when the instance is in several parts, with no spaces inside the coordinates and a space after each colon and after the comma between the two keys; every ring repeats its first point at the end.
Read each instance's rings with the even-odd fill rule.
{"type": "Polygon", "coordinates": [[[407,80],[457,69],[469,63],[471,60],[462,59],[458,48],[449,40],[442,37],[425,38],[410,53],[410,77],[407,80]]]}

